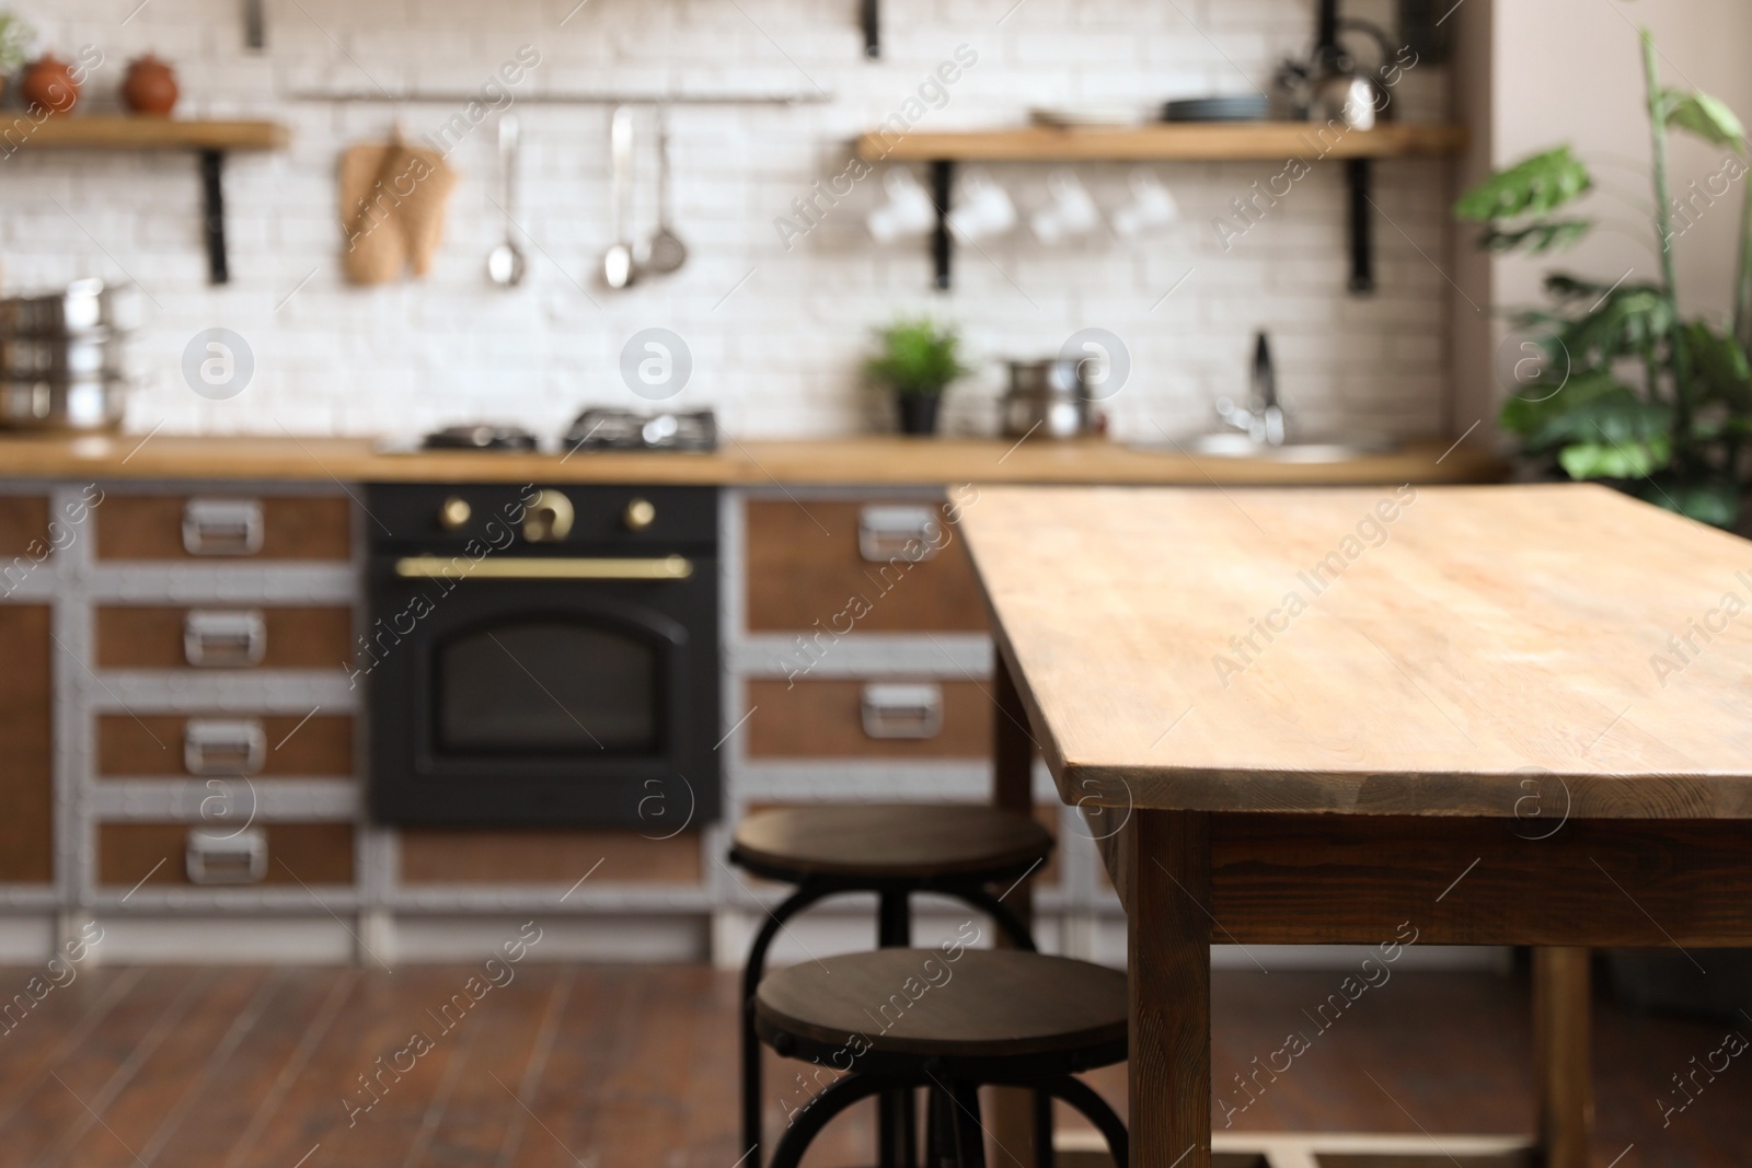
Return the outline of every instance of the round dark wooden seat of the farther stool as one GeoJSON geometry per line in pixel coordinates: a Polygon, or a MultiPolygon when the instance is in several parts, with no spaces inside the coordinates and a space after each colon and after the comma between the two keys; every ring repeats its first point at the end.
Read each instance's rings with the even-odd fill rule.
{"type": "Polygon", "coordinates": [[[732,858],[790,883],[809,876],[934,879],[1025,870],[1053,837],[1034,820],[978,804],[843,804],[755,813],[732,858]]]}

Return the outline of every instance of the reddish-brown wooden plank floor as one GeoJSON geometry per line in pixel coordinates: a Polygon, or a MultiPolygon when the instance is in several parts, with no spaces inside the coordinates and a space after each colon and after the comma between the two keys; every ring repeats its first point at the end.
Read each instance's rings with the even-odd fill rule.
{"type": "MultiPolygon", "coordinates": [[[[0,968],[0,988],[23,991],[37,974],[0,968]]],[[[478,967],[79,970],[23,1016],[14,1000],[5,1019],[0,1161],[9,1168],[738,1163],[734,977],[687,967],[526,963],[510,984],[480,993],[485,982],[473,982],[480,993],[473,1002],[468,979],[478,974],[478,967]]],[[[1332,1012],[1318,1016],[1318,1007],[1340,979],[1214,977],[1219,1126],[1226,1101],[1233,1129],[1531,1128],[1524,984],[1398,974],[1323,1028],[1332,1012]],[[1275,1079],[1258,1073],[1244,1094],[1232,1075],[1253,1073],[1254,1058],[1270,1065],[1291,1031],[1309,1047],[1275,1079]]],[[[1752,1035],[1752,1023],[1740,1031],[1752,1035]]],[[[1663,1128],[1661,1103],[1680,1100],[1671,1075],[1689,1073],[1692,1058],[1703,1063],[1722,1033],[1600,1007],[1598,1168],[1726,1168],[1752,1157],[1752,1058],[1734,1059],[1713,1080],[1698,1079],[1694,1101],[1663,1128]]],[[[769,1063],[774,1100],[787,1087],[797,1091],[795,1070],[769,1063]]],[[[1121,1072],[1093,1080],[1123,1103],[1121,1072]]],[[[776,1126],[778,1105],[771,1110],[776,1126]]],[[[869,1135],[869,1115],[855,1112],[823,1136],[809,1163],[867,1161],[869,1135]]]]}

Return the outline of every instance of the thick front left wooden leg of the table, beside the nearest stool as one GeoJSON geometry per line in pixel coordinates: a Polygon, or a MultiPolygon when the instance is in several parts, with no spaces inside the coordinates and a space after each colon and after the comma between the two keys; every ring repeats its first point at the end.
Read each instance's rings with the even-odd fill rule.
{"type": "Polygon", "coordinates": [[[1211,1168],[1211,821],[1137,811],[1130,841],[1135,1168],[1211,1168]]]}

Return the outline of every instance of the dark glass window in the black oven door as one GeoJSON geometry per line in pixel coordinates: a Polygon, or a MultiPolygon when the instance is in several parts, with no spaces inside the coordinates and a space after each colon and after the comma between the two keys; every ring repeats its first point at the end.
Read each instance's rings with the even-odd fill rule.
{"type": "Polygon", "coordinates": [[[438,744],[456,753],[657,753],[657,651],[615,629],[562,622],[452,637],[438,648],[438,744]]]}

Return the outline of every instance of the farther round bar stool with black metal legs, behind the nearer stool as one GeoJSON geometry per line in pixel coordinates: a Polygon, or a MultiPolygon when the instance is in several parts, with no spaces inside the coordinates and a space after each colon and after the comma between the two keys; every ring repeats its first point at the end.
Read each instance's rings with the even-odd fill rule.
{"type": "MultiPolygon", "coordinates": [[[[1034,820],[978,804],[843,804],[783,807],[745,818],[731,863],[795,884],[767,916],[743,967],[743,1154],[760,1168],[760,1042],[755,989],[767,949],[792,916],[827,897],[876,893],[876,944],[911,944],[913,893],[941,893],[988,914],[1018,949],[1034,949],[1028,926],[986,888],[1014,883],[1046,862],[1053,837],[1034,820]]],[[[913,1168],[913,1096],[880,1103],[883,1168],[913,1168]]]]}

